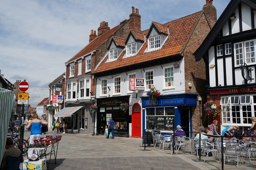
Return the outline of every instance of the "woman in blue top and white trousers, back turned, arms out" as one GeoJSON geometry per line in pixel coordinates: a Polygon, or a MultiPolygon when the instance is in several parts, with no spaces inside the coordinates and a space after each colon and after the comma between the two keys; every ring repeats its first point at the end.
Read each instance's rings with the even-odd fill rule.
{"type": "MultiPolygon", "coordinates": [[[[34,140],[40,139],[40,137],[42,136],[41,125],[48,125],[48,122],[39,120],[38,115],[36,113],[32,116],[32,118],[33,118],[33,120],[30,121],[26,127],[27,129],[29,129],[31,127],[29,144],[34,144],[34,140]]],[[[30,159],[30,156],[32,156],[33,152],[34,152],[34,149],[28,150],[28,158],[29,159],[30,159]]],[[[38,151],[38,154],[39,153],[40,153],[40,151],[38,151]]],[[[37,155],[35,155],[35,156],[36,156],[36,158],[38,157],[37,155]]]]}

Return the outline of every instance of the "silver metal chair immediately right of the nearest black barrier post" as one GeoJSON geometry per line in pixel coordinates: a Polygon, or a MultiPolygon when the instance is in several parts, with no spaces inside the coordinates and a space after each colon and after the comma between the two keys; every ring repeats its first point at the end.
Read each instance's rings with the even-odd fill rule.
{"type": "MultiPolygon", "coordinates": [[[[240,155],[240,147],[237,147],[237,143],[234,143],[234,142],[227,142],[225,145],[226,145],[226,149],[224,152],[224,166],[225,166],[227,156],[237,157],[237,168],[238,168],[238,158],[240,155]]],[[[241,164],[241,157],[240,157],[240,164],[241,164]]]]}

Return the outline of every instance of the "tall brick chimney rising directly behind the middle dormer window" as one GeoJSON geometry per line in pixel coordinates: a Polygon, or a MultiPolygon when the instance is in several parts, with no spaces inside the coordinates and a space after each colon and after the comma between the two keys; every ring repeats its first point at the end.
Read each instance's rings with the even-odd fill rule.
{"type": "Polygon", "coordinates": [[[141,32],[140,30],[141,16],[139,14],[139,9],[136,8],[136,12],[134,12],[134,7],[132,7],[132,13],[129,16],[130,16],[130,29],[141,32]]]}

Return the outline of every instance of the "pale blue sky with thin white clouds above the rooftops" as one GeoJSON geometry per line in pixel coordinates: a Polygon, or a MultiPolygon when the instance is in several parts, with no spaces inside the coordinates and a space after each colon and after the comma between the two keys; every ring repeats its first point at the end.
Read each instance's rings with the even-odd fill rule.
{"type": "MultiPolygon", "coordinates": [[[[230,0],[214,0],[217,17],[230,0]]],[[[32,107],[48,97],[48,85],[64,63],[89,42],[100,22],[113,28],[139,9],[141,28],[202,10],[206,0],[1,0],[0,70],[11,83],[29,83],[32,107]]],[[[97,33],[96,33],[97,34],[97,33]]]]}

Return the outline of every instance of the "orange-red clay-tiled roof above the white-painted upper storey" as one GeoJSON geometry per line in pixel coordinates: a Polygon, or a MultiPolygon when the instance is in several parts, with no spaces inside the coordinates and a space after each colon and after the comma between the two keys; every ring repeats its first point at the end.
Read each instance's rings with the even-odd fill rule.
{"type": "MultiPolygon", "coordinates": [[[[136,64],[136,63],[150,61],[152,59],[158,59],[158,58],[182,53],[183,52],[182,50],[184,49],[184,46],[186,45],[186,42],[190,34],[192,33],[194,26],[199,20],[201,14],[202,14],[202,11],[196,12],[189,16],[185,16],[183,18],[179,18],[172,22],[162,24],[169,29],[170,36],[167,38],[166,42],[163,44],[161,49],[150,51],[150,52],[144,52],[148,47],[148,44],[146,43],[147,42],[147,39],[146,39],[140,51],[134,56],[124,57],[125,51],[123,51],[120,57],[118,57],[116,61],[106,63],[106,60],[108,59],[108,55],[107,55],[103,59],[103,61],[98,65],[98,67],[95,69],[94,73],[99,73],[102,71],[107,71],[115,68],[136,64]]],[[[164,28],[164,26],[160,26],[160,24],[156,24],[156,25],[161,30],[164,28]]],[[[144,30],[142,31],[142,33],[146,35],[148,33],[148,30],[144,30]]]]}

